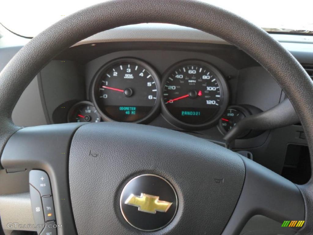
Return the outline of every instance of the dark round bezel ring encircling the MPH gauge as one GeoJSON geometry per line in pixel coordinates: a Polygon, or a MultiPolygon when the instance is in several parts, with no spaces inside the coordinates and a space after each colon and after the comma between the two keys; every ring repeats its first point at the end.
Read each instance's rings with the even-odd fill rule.
{"type": "Polygon", "coordinates": [[[182,128],[185,130],[203,130],[203,129],[208,129],[213,127],[214,125],[216,125],[218,123],[218,119],[223,115],[223,113],[225,112],[227,106],[228,106],[228,100],[229,100],[229,91],[228,91],[228,85],[227,82],[224,78],[224,76],[222,75],[222,73],[215,68],[213,65],[209,64],[206,61],[203,60],[182,60],[179,61],[173,65],[171,65],[163,74],[162,76],[162,101],[161,101],[161,107],[162,107],[162,115],[170,122],[172,123],[174,126],[176,126],[177,128],[182,128]],[[175,71],[177,68],[184,66],[184,65],[202,65],[202,66],[206,66],[208,69],[210,69],[213,73],[216,74],[217,76],[217,82],[218,85],[220,87],[220,91],[221,91],[221,105],[220,105],[220,109],[218,111],[218,113],[211,118],[208,122],[205,123],[201,123],[201,124],[189,124],[189,123],[184,123],[180,120],[178,120],[177,118],[175,118],[171,112],[168,111],[165,102],[164,102],[164,97],[163,97],[163,93],[164,93],[164,86],[165,83],[167,81],[167,77],[170,76],[170,74],[175,71]]]}

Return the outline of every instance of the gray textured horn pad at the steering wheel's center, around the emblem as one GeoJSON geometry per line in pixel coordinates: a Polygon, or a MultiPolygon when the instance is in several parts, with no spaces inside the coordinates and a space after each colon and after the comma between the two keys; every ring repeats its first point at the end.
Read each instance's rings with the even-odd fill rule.
{"type": "Polygon", "coordinates": [[[173,219],[164,226],[153,227],[151,222],[139,229],[160,229],[157,234],[221,234],[238,201],[244,176],[244,163],[232,151],[189,134],[140,124],[83,125],[74,134],[69,154],[70,195],[80,235],[137,234],[138,227],[127,221],[138,222],[146,216],[146,223],[157,223],[167,213],[173,219]],[[132,192],[122,194],[132,179],[145,174],[157,175],[165,184],[146,178],[146,183],[138,181],[140,186],[134,184],[132,192]],[[165,185],[172,187],[172,195],[162,191],[165,185]],[[166,205],[174,205],[166,210],[154,201],[144,207],[137,200],[141,193],[149,200],[159,196],[166,205]],[[129,198],[131,194],[137,197],[129,198]],[[140,216],[129,214],[126,221],[122,202],[140,216]],[[149,213],[154,210],[151,205],[160,211],[149,213]],[[138,211],[139,206],[148,212],[138,211]]]}

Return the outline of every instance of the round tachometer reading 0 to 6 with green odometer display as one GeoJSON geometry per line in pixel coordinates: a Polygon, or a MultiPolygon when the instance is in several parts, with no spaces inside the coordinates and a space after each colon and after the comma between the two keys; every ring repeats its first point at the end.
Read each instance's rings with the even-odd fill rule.
{"type": "Polygon", "coordinates": [[[106,121],[143,122],[160,103],[156,72],[141,60],[124,58],[105,65],[93,82],[93,101],[106,121]]]}

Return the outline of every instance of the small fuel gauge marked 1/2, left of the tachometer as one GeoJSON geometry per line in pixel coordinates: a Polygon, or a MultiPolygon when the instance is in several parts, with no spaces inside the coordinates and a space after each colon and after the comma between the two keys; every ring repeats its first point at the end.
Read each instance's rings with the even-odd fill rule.
{"type": "Polygon", "coordinates": [[[67,120],[69,123],[98,123],[100,122],[100,114],[91,102],[82,101],[71,107],[67,120]]]}

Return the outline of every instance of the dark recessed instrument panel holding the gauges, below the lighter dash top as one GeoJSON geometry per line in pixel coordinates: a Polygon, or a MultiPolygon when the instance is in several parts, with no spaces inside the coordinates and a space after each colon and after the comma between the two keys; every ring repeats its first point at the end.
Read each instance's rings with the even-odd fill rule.
{"type": "Polygon", "coordinates": [[[125,50],[125,43],[109,46],[117,51],[100,56],[92,52],[106,50],[105,43],[76,46],[40,72],[51,123],[132,122],[222,140],[242,118],[268,110],[282,98],[275,80],[230,45],[161,42],[157,50],[148,42],[132,43],[131,50],[125,50]],[[85,61],[81,50],[95,58],[85,61]],[[70,86],[65,76],[72,78],[70,86]],[[75,90],[51,93],[51,86],[75,90]]]}

